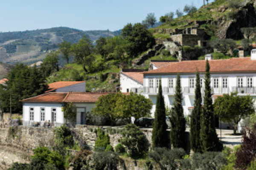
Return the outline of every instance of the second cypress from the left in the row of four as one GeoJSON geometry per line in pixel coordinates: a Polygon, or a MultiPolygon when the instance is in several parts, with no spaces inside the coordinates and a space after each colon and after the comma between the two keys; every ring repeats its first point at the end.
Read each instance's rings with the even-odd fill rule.
{"type": "Polygon", "coordinates": [[[171,112],[170,122],[171,131],[170,138],[173,147],[185,147],[185,130],[186,130],[186,119],[183,113],[182,106],[182,91],[180,86],[180,74],[177,74],[177,82],[175,89],[175,96],[173,102],[173,108],[171,112]]]}

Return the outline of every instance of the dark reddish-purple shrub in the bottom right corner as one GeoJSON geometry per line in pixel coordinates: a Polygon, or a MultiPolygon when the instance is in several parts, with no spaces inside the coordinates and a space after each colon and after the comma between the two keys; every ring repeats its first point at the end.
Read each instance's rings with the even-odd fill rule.
{"type": "Polygon", "coordinates": [[[243,132],[242,144],[236,151],[235,168],[245,170],[256,159],[256,125],[243,132]]]}

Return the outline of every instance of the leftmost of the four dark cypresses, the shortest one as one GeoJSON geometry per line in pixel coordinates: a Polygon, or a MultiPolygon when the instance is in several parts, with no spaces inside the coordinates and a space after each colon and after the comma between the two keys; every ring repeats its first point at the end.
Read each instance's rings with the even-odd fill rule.
{"type": "Polygon", "coordinates": [[[154,113],[154,124],[152,131],[152,143],[155,147],[168,147],[169,139],[167,137],[166,109],[162,94],[162,85],[160,82],[157,94],[156,111],[154,113]]]}

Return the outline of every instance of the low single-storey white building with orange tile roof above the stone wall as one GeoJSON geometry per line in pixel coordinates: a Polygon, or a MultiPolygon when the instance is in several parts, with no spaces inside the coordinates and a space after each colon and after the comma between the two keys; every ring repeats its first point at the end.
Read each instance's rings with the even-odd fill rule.
{"type": "Polygon", "coordinates": [[[63,105],[72,102],[76,105],[76,124],[85,125],[86,113],[91,112],[96,106],[99,96],[111,93],[87,93],[87,92],[49,92],[39,96],[23,99],[23,125],[51,122],[59,126],[67,121],[64,119],[63,105]]]}

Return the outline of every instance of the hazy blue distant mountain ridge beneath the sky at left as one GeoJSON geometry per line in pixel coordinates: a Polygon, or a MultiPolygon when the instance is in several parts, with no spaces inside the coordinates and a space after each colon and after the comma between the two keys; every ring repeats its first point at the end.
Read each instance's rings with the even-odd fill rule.
{"type": "Polygon", "coordinates": [[[120,31],[81,31],[67,27],[0,33],[0,62],[32,64],[44,59],[64,40],[75,43],[86,35],[95,42],[101,36],[114,37],[119,34],[120,31]]]}

